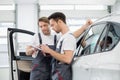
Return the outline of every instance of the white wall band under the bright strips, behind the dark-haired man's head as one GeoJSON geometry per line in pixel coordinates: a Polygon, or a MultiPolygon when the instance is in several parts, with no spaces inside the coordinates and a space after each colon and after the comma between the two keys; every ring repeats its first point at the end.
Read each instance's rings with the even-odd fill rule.
{"type": "Polygon", "coordinates": [[[67,18],[100,18],[108,14],[107,10],[42,10],[40,16],[49,16],[54,12],[63,12],[67,18]]]}

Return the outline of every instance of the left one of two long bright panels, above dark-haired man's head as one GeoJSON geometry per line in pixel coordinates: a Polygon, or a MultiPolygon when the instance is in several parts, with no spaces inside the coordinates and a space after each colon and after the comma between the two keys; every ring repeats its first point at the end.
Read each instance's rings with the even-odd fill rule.
{"type": "Polygon", "coordinates": [[[73,10],[73,5],[40,5],[40,10],[73,10]]]}

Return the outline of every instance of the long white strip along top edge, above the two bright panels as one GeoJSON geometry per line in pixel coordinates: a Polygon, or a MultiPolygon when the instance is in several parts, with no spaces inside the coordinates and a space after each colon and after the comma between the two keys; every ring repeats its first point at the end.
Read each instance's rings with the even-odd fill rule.
{"type": "Polygon", "coordinates": [[[39,4],[66,4],[66,5],[114,5],[116,1],[119,0],[39,0],[39,4]]]}

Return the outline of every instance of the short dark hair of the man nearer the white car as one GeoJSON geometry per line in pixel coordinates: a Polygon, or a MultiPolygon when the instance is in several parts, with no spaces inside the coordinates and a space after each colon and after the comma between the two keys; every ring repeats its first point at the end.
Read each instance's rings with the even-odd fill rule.
{"type": "Polygon", "coordinates": [[[66,24],[66,16],[62,12],[55,12],[51,14],[48,19],[54,19],[56,22],[60,19],[66,24]]]}

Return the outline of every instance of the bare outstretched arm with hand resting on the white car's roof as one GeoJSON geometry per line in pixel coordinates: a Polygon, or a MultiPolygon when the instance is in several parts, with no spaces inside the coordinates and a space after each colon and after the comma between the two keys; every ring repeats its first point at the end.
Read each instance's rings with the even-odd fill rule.
{"type": "Polygon", "coordinates": [[[80,29],[73,32],[74,37],[78,38],[88,28],[88,26],[90,26],[92,23],[93,22],[90,19],[88,19],[86,21],[86,23],[80,29]]]}

